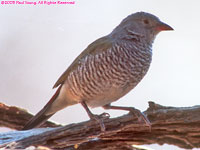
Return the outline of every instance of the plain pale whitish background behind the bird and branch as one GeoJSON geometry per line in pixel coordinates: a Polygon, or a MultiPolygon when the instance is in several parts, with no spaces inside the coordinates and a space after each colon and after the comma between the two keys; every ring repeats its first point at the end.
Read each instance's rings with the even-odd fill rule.
{"type": "MultiPolygon", "coordinates": [[[[75,5],[0,5],[0,101],[37,113],[53,95],[53,84],[75,57],[127,15],[147,11],[171,25],[153,45],[147,76],[116,105],[146,110],[162,105],[198,105],[200,94],[200,1],[75,0],[75,5]]],[[[102,113],[103,109],[93,109],[102,113]]],[[[112,116],[119,111],[109,111],[112,116]]],[[[88,119],[80,105],[51,118],[69,124],[88,119]]],[[[151,145],[155,150],[178,150],[151,145]]]]}

